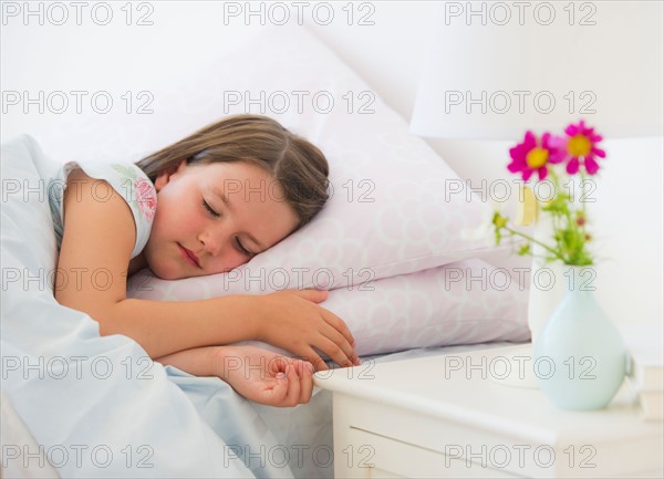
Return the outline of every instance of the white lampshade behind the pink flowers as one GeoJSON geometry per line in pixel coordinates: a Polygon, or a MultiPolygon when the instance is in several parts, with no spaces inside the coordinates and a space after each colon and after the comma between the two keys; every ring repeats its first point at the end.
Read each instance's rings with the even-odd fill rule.
{"type": "Polygon", "coordinates": [[[440,2],[411,132],[663,131],[663,2],[440,2]],[[570,24],[571,23],[571,24],[570,24]]]}

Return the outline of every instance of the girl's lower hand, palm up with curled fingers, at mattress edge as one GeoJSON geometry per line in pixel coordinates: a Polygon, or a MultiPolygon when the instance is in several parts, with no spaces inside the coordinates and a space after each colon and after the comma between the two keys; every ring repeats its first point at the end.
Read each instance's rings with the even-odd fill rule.
{"type": "Polygon", "coordinates": [[[238,394],[268,406],[307,404],[313,389],[313,366],[253,346],[222,346],[214,353],[215,375],[238,394]]]}

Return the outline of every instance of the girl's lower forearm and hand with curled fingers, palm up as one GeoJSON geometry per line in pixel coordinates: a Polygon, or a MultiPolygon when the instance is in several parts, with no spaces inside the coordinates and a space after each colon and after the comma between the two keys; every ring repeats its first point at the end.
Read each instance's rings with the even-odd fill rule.
{"type": "Polygon", "coordinates": [[[248,399],[270,406],[309,403],[313,366],[259,347],[209,346],[180,351],[155,361],[196,376],[217,376],[248,399]]]}

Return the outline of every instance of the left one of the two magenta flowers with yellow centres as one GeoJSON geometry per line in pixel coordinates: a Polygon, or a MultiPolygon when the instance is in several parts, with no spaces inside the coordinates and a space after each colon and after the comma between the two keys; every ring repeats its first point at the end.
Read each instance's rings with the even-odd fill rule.
{"type": "Polygon", "coordinates": [[[541,142],[538,143],[538,138],[532,132],[526,132],[523,142],[510,148],[509,156],[512,162],[507,165],[507,169],[511,173],[521,173],[523,181],[528,181],[530,176],[537,171],[539,179],[542,180],[549,173],[548,164],[560,163],[564,158],[564,150],[561,146],[561,138],[552,136],[550,133],[544,133],[541,142]]]}

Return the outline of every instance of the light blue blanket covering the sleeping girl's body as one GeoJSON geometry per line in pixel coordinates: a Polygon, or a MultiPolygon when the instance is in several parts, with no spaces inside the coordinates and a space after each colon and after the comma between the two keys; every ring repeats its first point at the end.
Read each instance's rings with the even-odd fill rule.
{"type": "MultiPolygon", "coordinates": [[[[28,136],[2,145],[1,385],[58,472],[332,477],[328,393],[291,409],[256,405],[218,378],[153,363],[128,337],[100,337],[55,301],[54,168],[28,136]]],[[[39,451],[8,446],[3,461],[39,469],[39,451]]]]}

